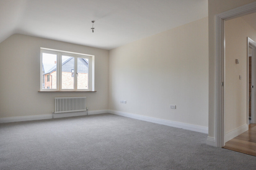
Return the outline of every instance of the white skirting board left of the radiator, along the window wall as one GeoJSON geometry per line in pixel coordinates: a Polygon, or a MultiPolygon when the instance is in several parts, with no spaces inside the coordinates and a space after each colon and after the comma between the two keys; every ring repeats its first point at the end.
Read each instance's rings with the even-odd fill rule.
{"type": "Polygon", "coordinates": [[[43,120],[43,119],[52,119],[52,114],[0,118],[0,123],[20,122],[20,121],[29,121],[29,120],[43,120]]]}

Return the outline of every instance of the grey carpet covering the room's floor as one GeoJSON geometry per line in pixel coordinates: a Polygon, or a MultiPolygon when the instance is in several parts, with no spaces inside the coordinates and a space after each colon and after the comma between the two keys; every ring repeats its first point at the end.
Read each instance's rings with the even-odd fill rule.
{"type": "Polygon", "coordinates": [[[206,134],[100,114],[0,124],[0,169],[255,169],[206,134]]]}

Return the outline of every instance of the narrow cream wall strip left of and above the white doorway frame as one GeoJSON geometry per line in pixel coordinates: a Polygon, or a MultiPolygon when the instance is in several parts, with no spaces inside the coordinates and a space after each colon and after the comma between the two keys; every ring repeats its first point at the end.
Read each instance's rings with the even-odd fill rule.
{"type": "Polygon", "coordinates": [[[215,138],[215,15],[236,7],[249,4],[256,0],[208,0],[208,30],[209,30],[209,137],[215,138]]]}

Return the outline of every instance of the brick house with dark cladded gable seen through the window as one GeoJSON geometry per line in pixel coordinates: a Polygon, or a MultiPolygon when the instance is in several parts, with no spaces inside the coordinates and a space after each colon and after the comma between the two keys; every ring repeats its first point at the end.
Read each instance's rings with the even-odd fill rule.
{"type": "MultiPolygon", "coordinates": [[[[56,61],[54,64],[43,63],[43,89],[56,89],[56,61]]],[[[74,89],[74,58],[68,57],[62,61],[62,89],[74,89]]],[[[88,89],[88,61],[77,58],[77,89],[88,89]]]]}

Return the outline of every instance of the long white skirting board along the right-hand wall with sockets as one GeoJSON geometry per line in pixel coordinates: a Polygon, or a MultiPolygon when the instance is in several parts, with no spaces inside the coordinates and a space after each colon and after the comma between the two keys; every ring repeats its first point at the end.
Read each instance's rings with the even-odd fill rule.
{"type": "Polygon", "coordinates": [[[208,134],[208,127],[204,127],[204,126],[191,125],[191,124],[175,122],[175,121],[171,121],[171,120],[152,118],[152,117],[148,117],[148,116],[142,116],[142,115],[138,115],[138,114],[120,112],[120,111],[115,111],[115,110],[108,110],[108,112],[112,113],[112,114],[120,115],[120,116],[133,118],[133,119],[144,120],[144,121],[148,121],[148,122],[172,126],[175,128],[183,128],[183,129],[187,129],[187,130],[192,130],[192,131],[208,134]]]}

